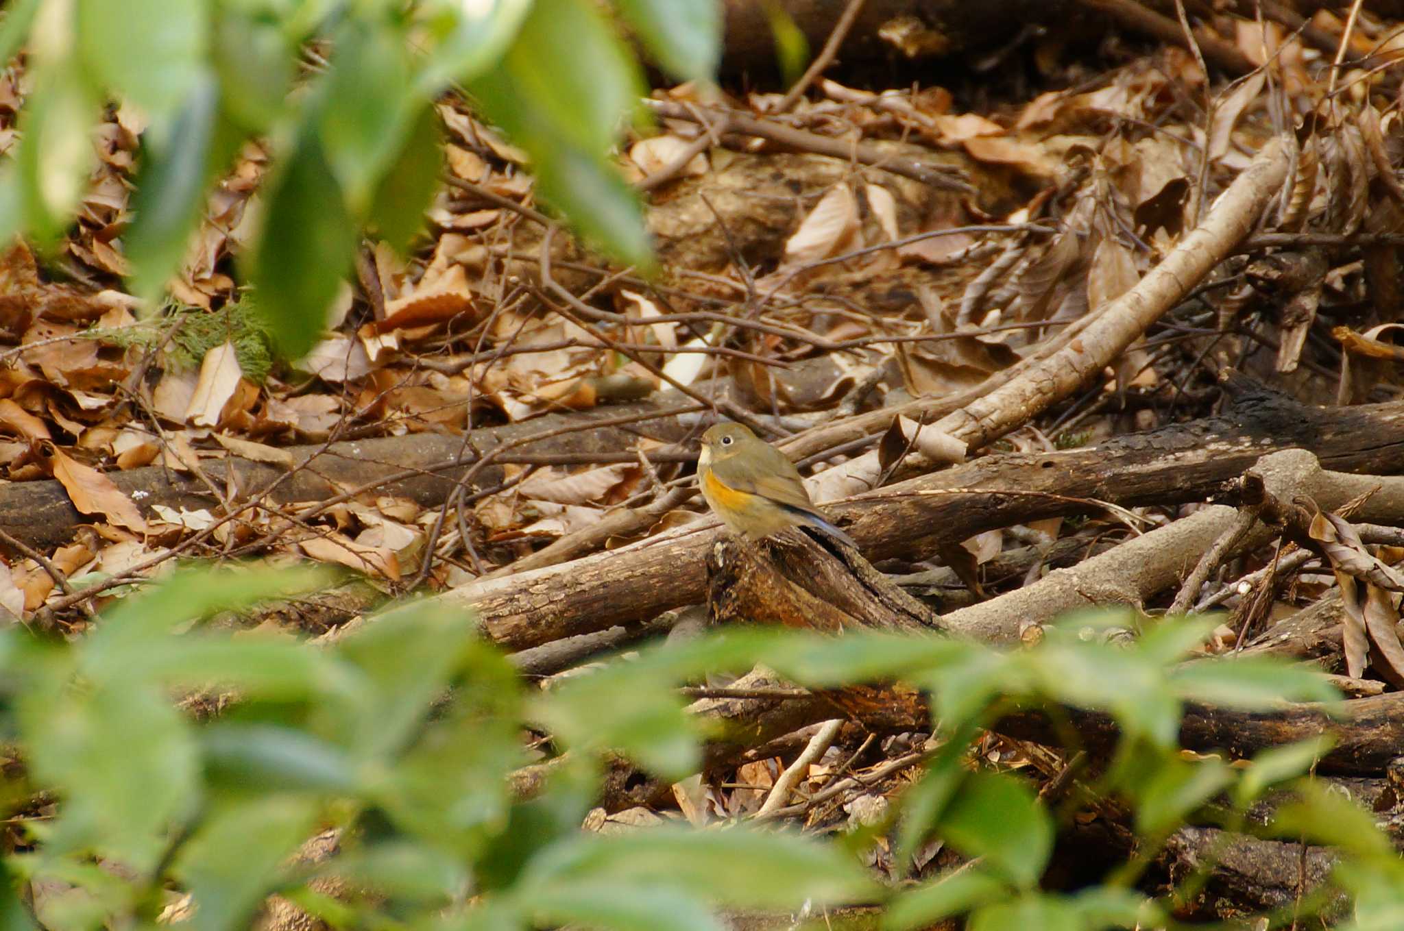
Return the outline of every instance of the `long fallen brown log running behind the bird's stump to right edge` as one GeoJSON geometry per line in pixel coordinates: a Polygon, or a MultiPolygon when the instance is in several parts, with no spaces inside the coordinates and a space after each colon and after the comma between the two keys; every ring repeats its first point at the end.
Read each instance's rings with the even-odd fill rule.
{"type": "MultiPolygon", "coordinates": [[[[1404,402],[1317,408],[1238,390],[1223,416],[1126,435],[1091,449],[995,454],[942,473],[855,495],[828,513],[869,559],[921,558],[1042,517],[1209,498],[1266,453],[1310,449],[1339,473],[1394,474],[1404,467],[1404,402]]],[[[653,617],[706,593],[703,561],[717,536],[698,523],[518,576],[470,583],[442,597],[472,606],[484,632],[517,651],[562,637],[653,617]]],[[[1184,566],[1188,572],[1193,565],[1184,566]]]]}

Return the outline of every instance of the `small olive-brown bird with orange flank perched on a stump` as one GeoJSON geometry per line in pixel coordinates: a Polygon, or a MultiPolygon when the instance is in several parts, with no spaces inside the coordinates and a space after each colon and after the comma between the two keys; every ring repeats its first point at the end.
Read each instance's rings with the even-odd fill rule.
{"type": "Polygon", "coordinates": [[[698,484],[712,513],[733,533],[760,540],[807,526],[855,545],[814,510],[795,464],[741,423],[717,423],[702,435],[698,484]]]}

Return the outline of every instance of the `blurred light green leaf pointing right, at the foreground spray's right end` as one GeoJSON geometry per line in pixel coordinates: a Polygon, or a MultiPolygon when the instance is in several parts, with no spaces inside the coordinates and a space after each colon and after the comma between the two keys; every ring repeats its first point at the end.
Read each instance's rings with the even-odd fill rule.
{"type": "Polygon", "coordinates": [[[1171,683],[1184,698],[1244,711],[1265,711],[1283,701],[1341,700],[1341,693],[1320,672],[1268,656],[1186,663],[1171,672],[1171,683]]]}

